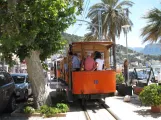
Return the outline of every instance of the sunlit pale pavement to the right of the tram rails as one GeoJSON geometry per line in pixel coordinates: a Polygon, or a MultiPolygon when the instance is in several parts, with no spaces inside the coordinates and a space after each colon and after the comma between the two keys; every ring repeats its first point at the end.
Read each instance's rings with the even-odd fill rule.
{"type": "Polygon", "coordinates": [[[150,107],[141,106],[135,96],[130,102],[124,102],[124,97],[106,98],[106,104],[121,120],[161,120],[161,113],[151,113],[150,107]]]}

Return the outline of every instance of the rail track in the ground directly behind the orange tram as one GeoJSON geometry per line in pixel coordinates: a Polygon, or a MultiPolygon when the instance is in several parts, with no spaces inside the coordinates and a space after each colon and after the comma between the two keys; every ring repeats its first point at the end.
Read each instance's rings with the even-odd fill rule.
{"type": "Polygon", "coordinates": [[[120,120],[117,115],[110,111],[108,105],[103,101],[90,101],[81,105],[86,120],[120,120]]]}

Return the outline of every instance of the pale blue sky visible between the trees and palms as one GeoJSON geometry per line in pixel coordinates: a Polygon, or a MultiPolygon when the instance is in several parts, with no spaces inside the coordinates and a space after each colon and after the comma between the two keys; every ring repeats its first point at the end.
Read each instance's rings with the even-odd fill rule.
{"type": "MultiPolygon", "coordinates": [[[[121,0],[120,0],[121,1],[121,0]]],[[[147,23],[144,19],[141,17],[147,13],[148,10],[156,7],[161,8],[161,0],[131,0],[134,2],[133,7],[130,8],[131,14],[129,15],[130,19],[133,22],[132,31],[128,33],[128,46],[129,47],[144,47],[147,43],[142,43],[142,37],[141,34],[141,28],[143,28],[147,23]]],[[[101,2],[101,0],[85,0],[84,2],[84,8],[87,8],[85,6],[88,5],[88,9],[90,6],[101,2]]],[[[88,13],[88,10],[85,10],[86,12],[83,12],[83,15],[77,16],[77,19],[84,19],[89,21],[89,19],[86,19],[84,16],[88,13]],[[85,15],[84,15],[85,14],[85,15]]],[[[84,34],[88,33],[87,31],[88,24],[85,22],[77,21],[74,25],[71,25],[67,29],[67,33],[78,35],[78,36],[84,36],[84,34]]],[[[121,34],[120,38],[117,38],[116,40],[117,44],[126,45],[126,40],[124,34],[121,34]]]]}

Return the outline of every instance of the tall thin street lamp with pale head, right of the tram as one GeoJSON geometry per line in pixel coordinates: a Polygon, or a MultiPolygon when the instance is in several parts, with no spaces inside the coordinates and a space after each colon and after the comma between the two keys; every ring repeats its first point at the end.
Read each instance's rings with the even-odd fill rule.
{"type": "MultiPolygon", "coordinates": [[[[128,61],[128,44],[127,44],[127,30],[130,27],[130,25],[123,25],[122,28],[125,30],[125,35],[126,35],[126,59],[128,61]]],[[[129,61],[128,61],[129,62],[129,61]]],[[[127,81],[129,81],[129,64],[127,65],[127,81]]]]}

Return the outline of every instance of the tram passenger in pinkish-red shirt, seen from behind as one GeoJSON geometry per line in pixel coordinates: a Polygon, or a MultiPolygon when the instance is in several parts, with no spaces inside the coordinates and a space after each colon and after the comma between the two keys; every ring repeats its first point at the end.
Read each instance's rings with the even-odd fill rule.
{"type": "Polygon", "coordinates": [[[91,56],[91,53],[87,54],[87,58],[84,61],[84,69],[87,71],[94,71],[96,69],[96,62],[91,56]]]}

